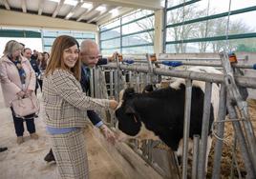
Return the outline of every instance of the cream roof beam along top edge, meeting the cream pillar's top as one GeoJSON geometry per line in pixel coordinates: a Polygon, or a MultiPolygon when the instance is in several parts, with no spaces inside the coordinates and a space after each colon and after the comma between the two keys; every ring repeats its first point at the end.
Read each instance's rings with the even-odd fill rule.
{"type": "Polygon", "coordinates": [[[117,7],[144,9],[144,10],[160,10],[160,0],[90,0],[102,4],[113,5],[117,7]]]}

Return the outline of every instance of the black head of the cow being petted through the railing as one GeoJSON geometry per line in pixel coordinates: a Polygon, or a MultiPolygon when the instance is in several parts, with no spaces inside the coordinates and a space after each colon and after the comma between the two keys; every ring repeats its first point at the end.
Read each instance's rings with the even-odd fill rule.
{"type": "MultiPolygon", "coordinates": [[[[136,95],[135,90],[131,88],[120,92],[120,102],[115,111],[118,139],[123,139],[124,134],[128,135],[130,138],[134,138],[139,133],[141,122],[134,105],[136,95]]],[[[128,136],[125,136],[125,138],[128,136]]]]}

